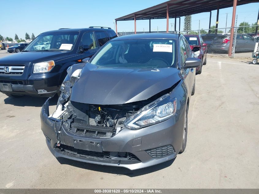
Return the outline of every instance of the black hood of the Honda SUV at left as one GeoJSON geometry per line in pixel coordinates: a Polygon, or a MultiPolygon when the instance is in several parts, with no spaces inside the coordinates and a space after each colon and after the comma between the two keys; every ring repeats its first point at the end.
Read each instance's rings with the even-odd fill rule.
{"type": "Polygon", "coordinates": [[[0,58],[0,64],[25,64],[25,66],[32,66],[33,63],[49,61],[69,55],[69,52],[60,51],[29,51],[19,52],[15,55],[9,55],[0,58]]]}

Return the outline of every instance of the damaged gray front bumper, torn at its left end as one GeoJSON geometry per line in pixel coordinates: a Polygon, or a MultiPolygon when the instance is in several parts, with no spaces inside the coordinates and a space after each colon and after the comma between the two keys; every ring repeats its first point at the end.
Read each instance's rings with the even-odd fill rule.
{"type": "Polygon", "coordinates": [[[46,143],[56,158],[135,170],[175,158],[182,145],[184,112],[139,130],[123,128],[110,138],[76,135],[66,130],[60,120],[49,117],[49,99],[40,117],[46,143]],[[60,146],[55,132],[58,129],[60,146]]]}

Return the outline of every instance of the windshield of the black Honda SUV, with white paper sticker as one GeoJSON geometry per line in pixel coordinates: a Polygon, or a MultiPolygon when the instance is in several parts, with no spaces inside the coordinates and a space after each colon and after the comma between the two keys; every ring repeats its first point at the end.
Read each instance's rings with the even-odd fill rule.
{"type": "Polygon", "coordinates": [[[74,47],[78,34],[79,32],[42,33],[24,51],[70,51],[74,47]]]}

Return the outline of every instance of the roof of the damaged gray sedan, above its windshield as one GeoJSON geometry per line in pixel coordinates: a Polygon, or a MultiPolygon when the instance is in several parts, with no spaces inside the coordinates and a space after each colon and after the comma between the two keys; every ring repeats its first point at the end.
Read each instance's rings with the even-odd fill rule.
{"type": "Polygon", "coordinates": [[[142,33],[142,34],[131,34],[126,36],[120,36],[114,38],[110,41],[114,40],[131,40],[131,39],[177,39],[180,34],[173,34],[173,33],[142,33]]]}

